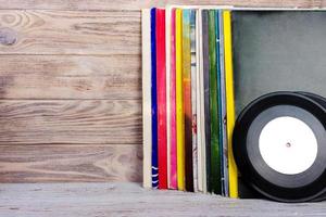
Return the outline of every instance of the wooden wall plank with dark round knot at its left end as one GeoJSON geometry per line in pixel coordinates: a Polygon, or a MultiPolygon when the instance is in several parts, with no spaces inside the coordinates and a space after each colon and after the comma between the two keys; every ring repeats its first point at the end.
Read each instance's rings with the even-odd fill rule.
{"type": "Polygon", "coordinates": [[[0,11],[0,54],[139,54],[140,12],[0,11]]]}

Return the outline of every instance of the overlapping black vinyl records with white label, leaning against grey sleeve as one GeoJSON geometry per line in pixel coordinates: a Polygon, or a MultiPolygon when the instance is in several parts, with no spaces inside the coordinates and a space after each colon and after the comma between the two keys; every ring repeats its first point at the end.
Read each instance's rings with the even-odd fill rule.
{"type": "Polygon", "coordinates": [[[241,177],[281,202],[322,200],[326,193],[326,100],[308,92],[274,92],[250,103],[234,129],[241,177]]]}

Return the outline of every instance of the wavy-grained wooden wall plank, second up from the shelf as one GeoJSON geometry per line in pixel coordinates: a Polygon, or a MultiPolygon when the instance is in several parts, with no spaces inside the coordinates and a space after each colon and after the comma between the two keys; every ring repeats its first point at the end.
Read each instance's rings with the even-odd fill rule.
{"type": "Polygon", "coordinates": [[[141,126],[137,100],[0,101],[0,145],[140,144],[141,126]]]}

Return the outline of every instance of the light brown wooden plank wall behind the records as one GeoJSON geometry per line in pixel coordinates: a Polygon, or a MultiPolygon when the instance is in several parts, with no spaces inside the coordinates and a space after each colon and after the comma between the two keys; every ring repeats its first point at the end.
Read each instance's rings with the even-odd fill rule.
{"type": "Polygon", "coordinates": [[[0,182],[141,181],[140,9],[317,0],[0,0],[0,182]]]}

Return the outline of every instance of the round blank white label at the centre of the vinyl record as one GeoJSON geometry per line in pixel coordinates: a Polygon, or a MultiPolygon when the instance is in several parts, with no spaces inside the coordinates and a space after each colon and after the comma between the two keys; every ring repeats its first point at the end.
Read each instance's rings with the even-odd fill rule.
{"type": "Polygon", "coordinates": [[[285,175],[309,169],[318,151],[313,130],[304,122],[289,116],[277,117],[264,126],[259,148],[265,163],[285,175]]]}

